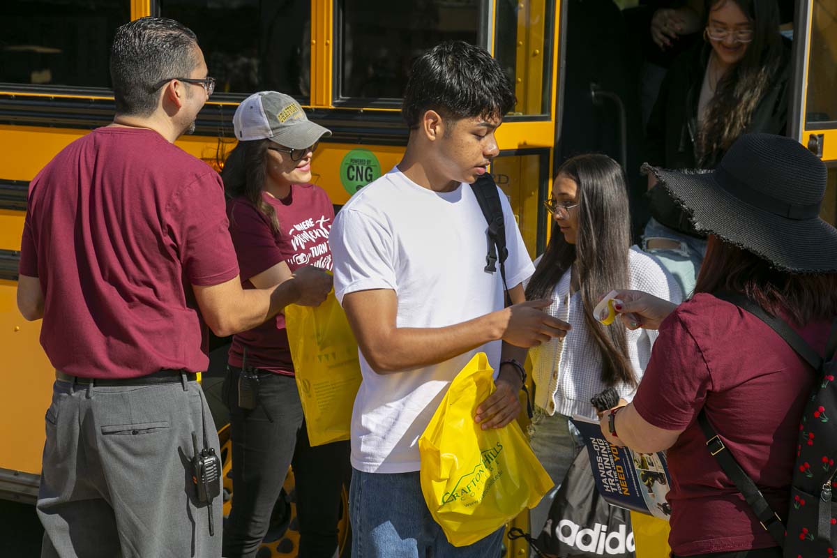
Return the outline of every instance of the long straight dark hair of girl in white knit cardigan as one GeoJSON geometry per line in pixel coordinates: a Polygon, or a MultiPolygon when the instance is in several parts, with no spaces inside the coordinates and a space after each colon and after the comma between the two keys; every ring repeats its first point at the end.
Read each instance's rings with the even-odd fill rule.
{"type": "Polygon", "coordinates": [[[549,298],[563,274],[574,265],[584,324],[602,355],[602,381],[608,386],[619,381],[635,385],[624,326],[617,320],[605,327],[593,318],[593,307],[602,294],[630,287],[630,218],[622,167],[608,156],[580,155],[564,162],[556,176],[571,178],[578,187],[576,243],[567,243],[557,227],[552,228],[547,250],[526,287],[526,298],[549,298]]]}

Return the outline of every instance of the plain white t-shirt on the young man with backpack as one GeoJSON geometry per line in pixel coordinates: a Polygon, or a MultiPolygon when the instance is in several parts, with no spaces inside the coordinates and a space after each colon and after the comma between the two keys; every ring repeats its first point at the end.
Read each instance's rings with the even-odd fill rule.
{"type": "MultiPolygon", "coordinates": [[[[506,218],[506,281],[511,289],[534,267],[501,192],[506,218]]],[[[488,228],[470,185],[454,192],[420,187],[393,168],[363,187],[331,228],[334,289],[393,289],[398,327],[459,324],[504,305],[499,264],[485,272],[488,228]]],[[[377,374],[360,355],[363,381],[352,412],[352,466],[367,473],[419,470],[419,436],[454,376],[484,351],[496,370],[501,341],[434,366],[377,374]]]]}

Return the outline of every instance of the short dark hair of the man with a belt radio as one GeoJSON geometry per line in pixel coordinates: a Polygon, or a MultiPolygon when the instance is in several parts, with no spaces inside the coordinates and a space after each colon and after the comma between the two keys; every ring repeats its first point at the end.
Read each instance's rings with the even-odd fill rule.
{"type": "Polygon", "coordinates": [[[198,65],[198,38],[167,18],[139,18],[116,30],[110,47],[110,80],[116,112],[150,115],[157,109],[163,79],[187,78],[198,65]]]}

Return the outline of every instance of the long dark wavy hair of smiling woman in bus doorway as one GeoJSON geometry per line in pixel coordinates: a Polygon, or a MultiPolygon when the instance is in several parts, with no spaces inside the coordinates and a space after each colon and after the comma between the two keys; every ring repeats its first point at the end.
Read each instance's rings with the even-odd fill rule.
{"type": "Polygon", "coordinates": [[[753,36],[743,58],[718,81],[715,96],[706,109],[706,121],[697,138],[701,166],[714,166],[747,130],[753,113],[783,64],[776,0],[706,0],[704,26],[711,10],[727,2],[735,2],[747,15],[753,36]]]}

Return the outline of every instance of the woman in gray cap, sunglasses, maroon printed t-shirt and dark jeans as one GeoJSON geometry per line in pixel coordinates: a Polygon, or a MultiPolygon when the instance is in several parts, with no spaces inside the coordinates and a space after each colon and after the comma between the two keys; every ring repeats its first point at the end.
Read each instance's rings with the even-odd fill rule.
{"type": "MultiPolygon", "coordinates": [[[[275,91],[245,99],[233,126],[239,145],[222,177],[244,289],[275,287],[305,264],[331,270],[334,207],[328,194],[311,184],[317,142],[331,131],[308,120],[292,97],[275,91]]],[[[299,555],[331,558],[349,443],[311,448],[283,315],[234,335],[223,397],[232,427],[234,494],[223,532],[224,557],[256,554],[293,465],[299,555]],[[239,394],[239,383],[248,381],[242,366],[245,375],[258,377],[252,402],[239,394]]]]}

